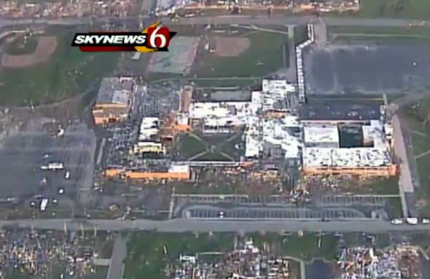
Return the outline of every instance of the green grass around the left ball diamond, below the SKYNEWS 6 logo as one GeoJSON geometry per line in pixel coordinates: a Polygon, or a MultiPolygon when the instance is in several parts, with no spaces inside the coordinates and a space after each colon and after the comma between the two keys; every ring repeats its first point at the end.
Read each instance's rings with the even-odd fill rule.
{"type": "Polygon", "coordinates": [[[55,102],[85,93],[102,76],[116,68],[120,54],[85,53],[70,47],[75,30],[53,27],[47,35],[56,35],[58,47],[47,62],[23,69],[0,70],[0,105],[34,105],[55,102]]]}

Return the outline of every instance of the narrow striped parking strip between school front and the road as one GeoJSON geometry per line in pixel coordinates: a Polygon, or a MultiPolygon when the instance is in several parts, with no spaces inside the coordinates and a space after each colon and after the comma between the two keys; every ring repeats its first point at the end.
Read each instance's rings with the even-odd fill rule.
{"type": "Polygon", "coordinates": [[[182,211],[183,218],[212,219],[307,219],[307,218],[366,218],[352,208],[268,208],[268,207],[235,207],[219,208],[216,206],[189,206],[182,211]]]}

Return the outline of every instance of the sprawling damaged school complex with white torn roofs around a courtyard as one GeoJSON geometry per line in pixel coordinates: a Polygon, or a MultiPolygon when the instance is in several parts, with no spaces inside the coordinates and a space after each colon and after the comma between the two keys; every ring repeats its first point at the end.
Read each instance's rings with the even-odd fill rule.
{"type": "Polygon", "coordinates": [[[124,163],[106,164],[106,177],[190,180],[201,167],[251,168],[254,174],[294,167],[305,176],[389,177],[397,172],[393,128],[381,105],[333,102],[297,107],[291,103],[297,96],[295,86],[269,79],[257,90],[207,93],[185,85],[178,95],[176,111],[141,117],[124,163]],[[206,138],[240,133],[241,155],[224,162],[178,160],[174,147],[184,133],[206,138]]]}

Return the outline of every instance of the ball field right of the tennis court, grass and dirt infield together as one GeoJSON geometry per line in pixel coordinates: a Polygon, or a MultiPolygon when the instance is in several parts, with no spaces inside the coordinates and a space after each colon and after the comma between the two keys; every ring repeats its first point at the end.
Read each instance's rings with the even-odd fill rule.
{"type": "Polygon", "coordinates": [[[211,32],[211,52],[197,57],[197,77],[262,77],[288,66],[288,34],[238,30],[234,34],[211,32]]]}

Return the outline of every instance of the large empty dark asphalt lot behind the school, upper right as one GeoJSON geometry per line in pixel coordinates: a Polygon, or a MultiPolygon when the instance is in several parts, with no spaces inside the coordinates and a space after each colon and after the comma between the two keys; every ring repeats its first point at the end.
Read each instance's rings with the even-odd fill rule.
{"type": "Polygon", "coordinates": [[[307,91],[398,93],[429,85],[429,62],[430,47],[418,42],[330,45],[306,55],[307,91]]]}

